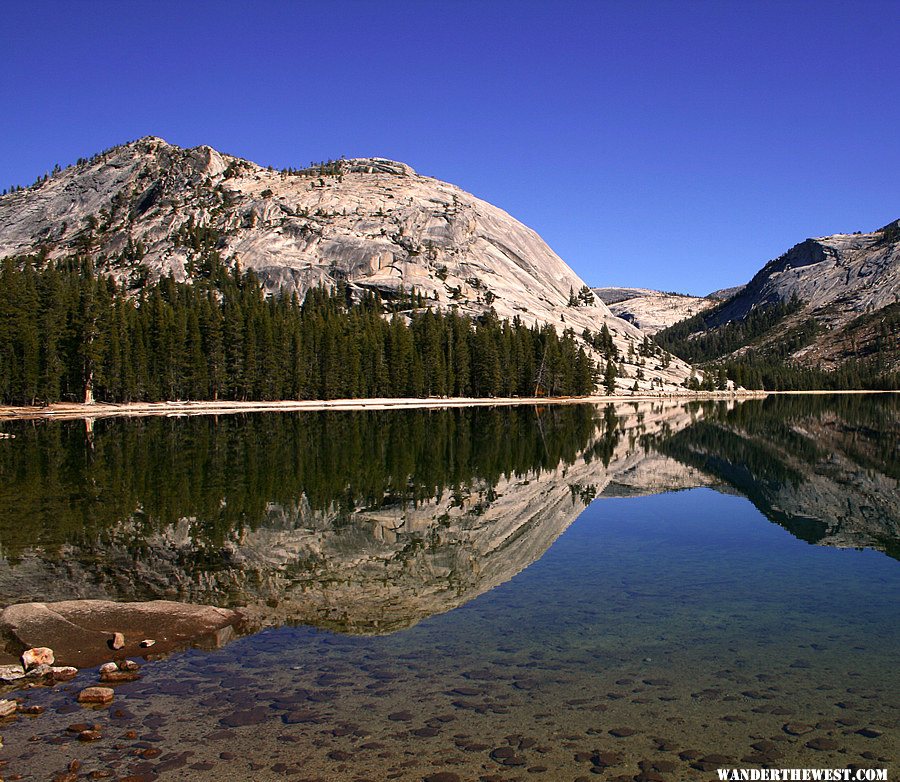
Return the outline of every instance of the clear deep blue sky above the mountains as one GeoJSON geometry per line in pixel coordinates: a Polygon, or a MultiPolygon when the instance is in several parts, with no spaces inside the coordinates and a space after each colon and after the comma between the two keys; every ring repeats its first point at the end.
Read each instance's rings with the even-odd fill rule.
{"type": "Polygon", "coordinates": [[[0,187],[144,135],[378,155],[592,285],[692,293],[900,217],[897,0],[7,0],[0,30],[0,187]]]}

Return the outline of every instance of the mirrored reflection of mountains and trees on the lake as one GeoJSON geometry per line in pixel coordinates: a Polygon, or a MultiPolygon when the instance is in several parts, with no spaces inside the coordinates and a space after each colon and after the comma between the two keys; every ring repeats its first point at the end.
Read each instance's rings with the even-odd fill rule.
{"type": "Polygon", "coordinates": [[[4,428],[3,603],[166,598],[389,633],[508,581],[595,499],[698,486],[900,556],[894,395],[4,428]]]}

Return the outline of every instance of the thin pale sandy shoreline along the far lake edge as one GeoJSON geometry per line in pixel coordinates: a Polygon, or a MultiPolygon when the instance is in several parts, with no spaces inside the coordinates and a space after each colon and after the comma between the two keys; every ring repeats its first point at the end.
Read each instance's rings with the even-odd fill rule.
{"type": "Polygon", "coordinates": [[[684,394],[634,394],[632,396],[577,397],[381,397],[372,399],[310,399],[280,400],[276,402],[239,401],[176,401],[176,402],[97,402],[86,405],[76,402],[57,402],[44,407],[0,406],[0,421],[30,419],[96,419],[137,416],[181,417],[189,415],[235,415],[238,413],[303,412],[321,410],[412,410],[453,407],[509,407],[515,405],[581,405],[628,404],[666,400],[708,401],[729,399],[763,399],[774,395],[824,394],[897,394],[900,391],[719,391],[687,392],[684,394]]]}

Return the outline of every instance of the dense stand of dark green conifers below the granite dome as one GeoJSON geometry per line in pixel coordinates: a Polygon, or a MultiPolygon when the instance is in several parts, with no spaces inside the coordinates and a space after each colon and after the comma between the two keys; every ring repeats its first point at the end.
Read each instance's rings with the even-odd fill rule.
{"type": "Polygon", "coordinates": [[[217,237],[178,241],[204,273],[136,293],[88,262],[8,259],[0,268],[0,401],[581,395],[595,367],[571,331],[478,322],[425,308],[415,291],[358,301],[349,286],[266,296],[227,272],[217,237]],[[390,320],[385,314],[393,312],[390,320]],[[540,373],[538,373],[540,368],[540,373]]]}

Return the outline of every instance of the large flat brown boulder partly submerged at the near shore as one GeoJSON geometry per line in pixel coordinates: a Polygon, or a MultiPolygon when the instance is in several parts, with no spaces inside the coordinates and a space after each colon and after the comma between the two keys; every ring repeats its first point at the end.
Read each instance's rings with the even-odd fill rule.
{"type": "MultiPolygon", "coordinates": [[[[84,668],[109,659],[110,628],[124,628],[130,638],[142,638],[152,631],[160,639],[158,651],[165,653],[194,644],[219,646],[233,635],[240,621],[235,611],[167,600],[65,600],[5,608],[0,612],[0,634],[6,638],[7,650],[17,644],[47,644],[57,661],[84,668]]],[[[135,653],[137,643],[126,644],[124,650],[122,654],[135,653]]]]}

